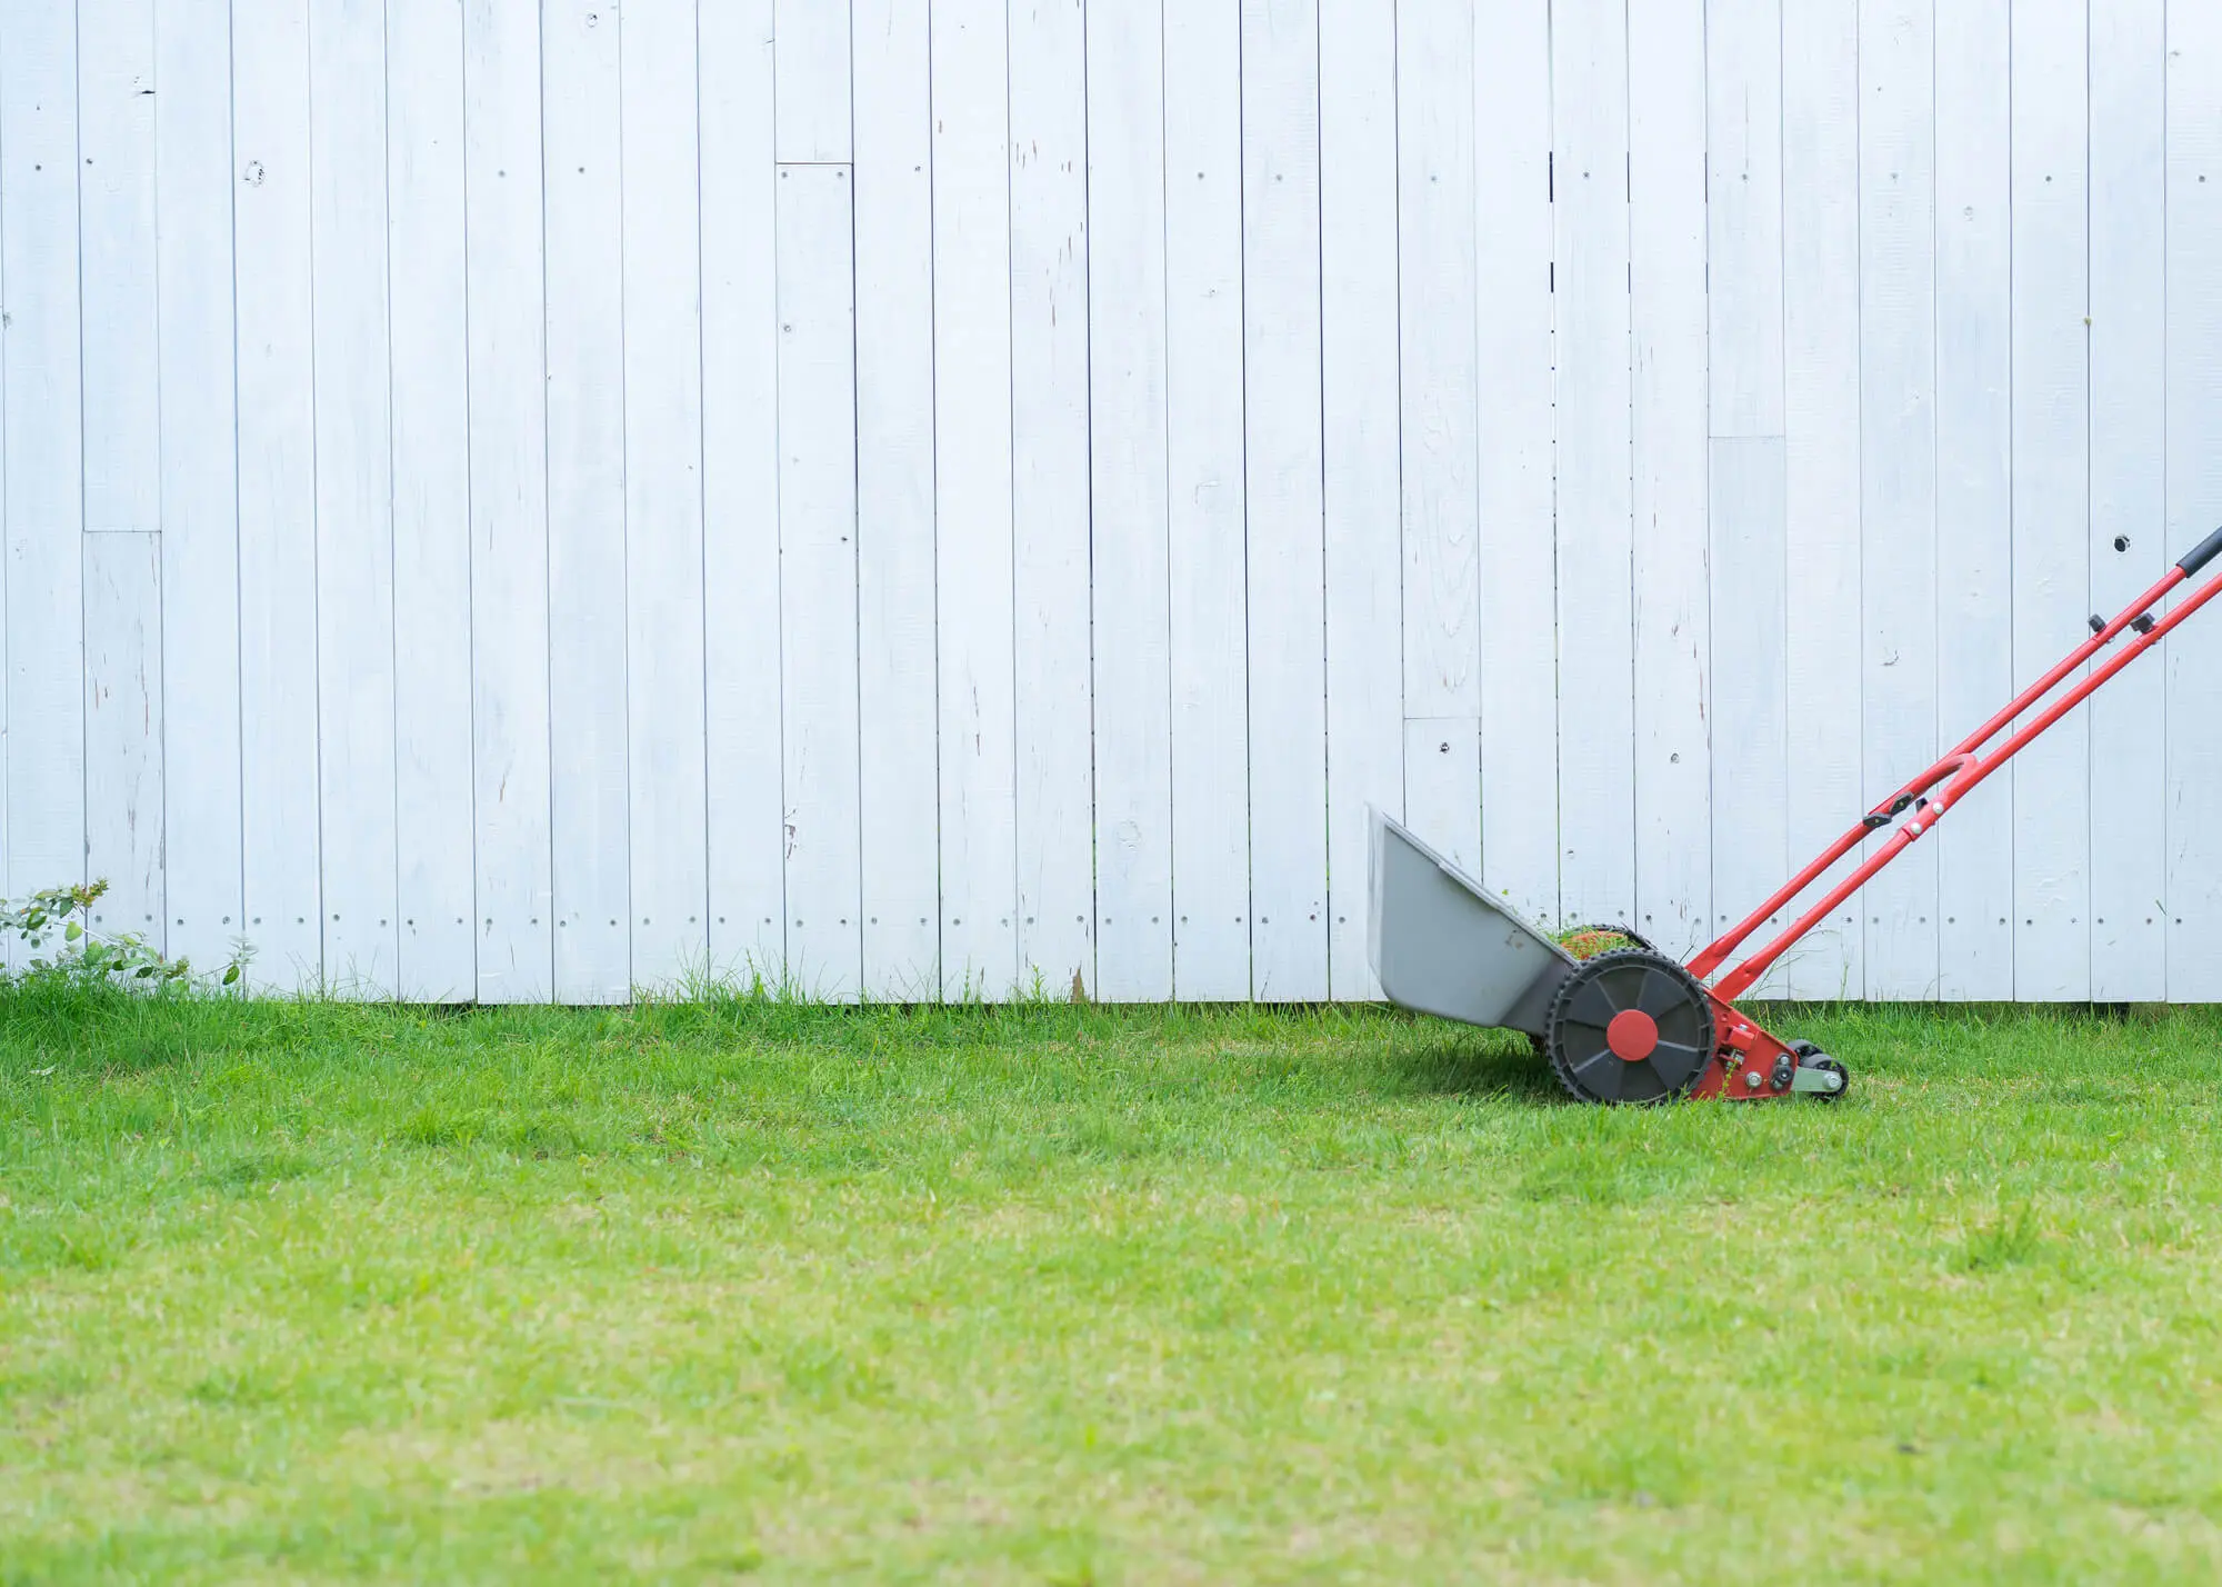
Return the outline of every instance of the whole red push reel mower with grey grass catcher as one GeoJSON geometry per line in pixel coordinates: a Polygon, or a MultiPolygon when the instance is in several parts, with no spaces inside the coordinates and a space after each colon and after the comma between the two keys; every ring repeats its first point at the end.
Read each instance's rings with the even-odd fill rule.
{"type": "Polygon", "coordinates": [[[1400,822],[1373,811],[1369,949],[1382,991],[1391,1002],[1420,1014],[1527,1031],[1551,1060],[1560,1085],[1580,1102],[1664,1102],[1682,1096],[1738,1102],[1842,1098],[1851,1082],[1842,1062],[1813,1042],[1782,1040],[1740,1011],[1735,1000],[1984,778],[2222,593],[2222,578],[2209,578],[2164,616],[2153,616],[2171,591],[2198,578],[2218,556],[2222,529],[2113,622],[2093,616],[2091,636],[2066,660],[1862,816],[1689,965],[1660,954],[1627,927],[1598,927],[1591,936],[1624,938],[1633,947],[1578,958],[1482,891],[1480,882],[1400,822]],[[2018,718],[2122,636],[2129,636],[2126,645],[2013,729],[2018,718]],[[1869,858],[1820,902],[1740,965],[1724,969],[1769,918],[1798,900],[1838,860],[1891,827],[1895,831],[1878,840],[1869,858]]]}

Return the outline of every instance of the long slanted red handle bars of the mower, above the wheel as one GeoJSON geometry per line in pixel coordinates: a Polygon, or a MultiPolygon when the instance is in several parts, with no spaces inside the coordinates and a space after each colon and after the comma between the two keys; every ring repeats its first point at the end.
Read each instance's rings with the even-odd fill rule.
{"type": "MultiPolygon", "coordinates": [[[[2189,562],[2191,558],[2186,558],[2189,562]]],[[[2200,562],[2204,565],[2204,562],[2200,562]]],[[[2182,585],[2191,571],[2180,562],[2169,569],[2169,576],[2144,591],[2135,605],[2126,607],[2122,616],[2104,625],[2089,640],[2078,645],[2066,660],[2044,673],[2038,682],[2022,689],[2011,705],[2006,705],[1998,716],[1969,733],[1960,745],[1953,747],[1949,756],[1938,760],[1933,767],[1922,771],[1918,778],[1906,782],[1898,794],[1878,805],[1858,827],[1838,838],[1818,860],[1798,871],[1789,882],[1784,882],[1766,902],[1762,902],[1751,916],[1746,916],[1735,929],[1722,936],[1718,942],[1706,947],[1698,958],[1691,960],[1689,969],[1700,980],[1718,971],[1729,956],[1769,918],[1775,916],[1784,905],[1806,891],[1815,880],[1820,880],[1838,860],[1860,847],[1873,831],[1880,831],[1898,816],[1911,811],[1911,820],[1900,827],[1873,856],[1866,858],[1855,871],[1851,871],[1842,882],[1829,889],[1829,896],[1818,905],[1806,909],[1786,931],[1762,947],[1758,954],[1738,965],[1729,976],[1724,976],[1713,994],[1722,1000],[1740,998],[1760,976],[1764,976],[1782,954],[1786,954],[1800,938],[1813,927],[1829,918],[1846,898],[1866,887],[1873,876],[1906,851],[1924,831],[1938,825],[1946,809],[1951,809],[1960,798],[1975,789],[1984,778],[1989,778],[1998,767],[2013,760],[2022,749],[2029,747],[2040,733],[2053,727],[2062,716],[2082,705],[2095,689],[2111,680],[2118,671],[2129,667],[2133,660],[2153,649],[2166,633],[2189,618],[2193,611],[2204,607],[2218,593],[2222,593],[2222,578],[2209,580],[2184,600],[2175,611],[2155,620],[2149,629],[2138,633],[2118,656],[2113,656],[2098,671],[2086,673],[2073,689],[2069,689],[2060,700],[2049,705],[2040,716],[2035,716],[2024,729],[2009,736],[2004,745],[1993,749],[1989,756],[1978,753],[1984,745],[1998,738],[2018,716],[2038,705],[2049,696],[2069,673],[2089,662],[2100,649],[2118,640],[2126,629],[2131,629],[2140,618],[2144,618],[2155,605],[2160,605],[2171,589],[2182,585]],[[1944,785],[1944,791],[1933,800],[1924,800],[1931,789],[1944,785]]]]}

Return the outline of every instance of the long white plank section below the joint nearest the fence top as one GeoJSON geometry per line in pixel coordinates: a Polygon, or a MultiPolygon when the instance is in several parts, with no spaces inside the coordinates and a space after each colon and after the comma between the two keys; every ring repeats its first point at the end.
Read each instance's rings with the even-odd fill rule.
{"type": "Polygon", "coordinates": [[[787,971],[862,989],[855,718],[855,293],[849,167],[782,164],[780,676],[787,971]]]}

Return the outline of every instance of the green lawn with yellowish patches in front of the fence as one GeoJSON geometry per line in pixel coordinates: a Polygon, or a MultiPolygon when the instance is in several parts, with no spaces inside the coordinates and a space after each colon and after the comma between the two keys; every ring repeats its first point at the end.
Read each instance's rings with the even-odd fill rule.
{"type": "Polygon", "coordinates": [[[0,996],[0,1580],[2215,1580],[2222,1018],[0,996]]]}

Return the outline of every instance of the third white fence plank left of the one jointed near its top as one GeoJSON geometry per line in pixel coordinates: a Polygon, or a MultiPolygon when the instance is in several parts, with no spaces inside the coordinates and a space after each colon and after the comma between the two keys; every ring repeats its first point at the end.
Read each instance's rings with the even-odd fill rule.
{"type": "Polygon", "coordinates": [[[549,0],[549,834],[556,996],[633,994],[627,736],[627,202],[622,36],[642,7],[549,0]],[[622,18],[622,22],[620,22],[622,18]]]}

